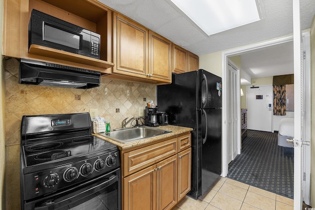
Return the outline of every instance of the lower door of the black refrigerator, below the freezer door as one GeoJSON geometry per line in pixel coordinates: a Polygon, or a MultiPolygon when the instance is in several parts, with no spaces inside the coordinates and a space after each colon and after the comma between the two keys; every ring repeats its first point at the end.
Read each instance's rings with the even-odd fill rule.
{"type": "Polygon", "coordinates": [[[203,195],[221,175],[221,109],[201,112],[201,194],[203,195]]]}

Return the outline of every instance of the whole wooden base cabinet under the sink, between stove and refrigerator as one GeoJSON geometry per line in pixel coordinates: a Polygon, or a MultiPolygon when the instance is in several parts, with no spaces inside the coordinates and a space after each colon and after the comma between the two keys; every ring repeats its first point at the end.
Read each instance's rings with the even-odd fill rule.
{"type": "MultiPolygon", "coordinates": [[[[176,144],[180,144],[182,141],[187,142],[186,147],[178,149],[178,152],[172,156],[167,156],[166,153],[164,158],[160,158],[153,165],[142,168],[123,178],[123,210],[170,210],[190,191],[190,134],[175,139],[177,140],[176,144]]],[[[135,155],[135,158],[142,159],[143,164],[145,164],[150,158],[143,158],[138,153],[144,154],[147,150],[155,151],[163,143],[171,145],[170,143],[175,139],[127,152],[125,157],[135,155]]],[[[175,145],[175,148],[180,147],[175,145]]],[[[127,165],[130,164],[129,162],[127,165]]],[[[124,165],[126,166],[125,163],[123,163],[124,165]]]]}

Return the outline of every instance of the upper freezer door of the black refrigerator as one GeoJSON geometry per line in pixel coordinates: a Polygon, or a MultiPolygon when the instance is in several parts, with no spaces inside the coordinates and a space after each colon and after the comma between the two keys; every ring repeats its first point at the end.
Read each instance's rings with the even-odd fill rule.
{"type": "Polygon", "coordinates": [[[221,77],[205,70],[199,70],[199,81],[201,81],[201,108],[222,107],[221,77]]]}

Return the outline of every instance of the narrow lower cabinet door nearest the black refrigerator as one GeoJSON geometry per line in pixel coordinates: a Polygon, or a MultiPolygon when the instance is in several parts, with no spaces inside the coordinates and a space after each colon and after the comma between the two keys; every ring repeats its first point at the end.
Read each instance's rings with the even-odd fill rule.
{"type": "Polygon", "coordinates": [[[178,153],[178,201],[190,191],[190,180],[191,148],[178,153]]]}

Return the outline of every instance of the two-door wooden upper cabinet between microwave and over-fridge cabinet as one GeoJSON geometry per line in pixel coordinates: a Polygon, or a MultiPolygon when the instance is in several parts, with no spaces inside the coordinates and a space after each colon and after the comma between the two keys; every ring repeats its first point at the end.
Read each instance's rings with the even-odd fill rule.
{"type": "Polygon", "coordinates": [[[116,78],[171,83],[171,41],[119,13],[114,13],[113,56],[116,78]]]}

